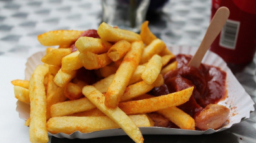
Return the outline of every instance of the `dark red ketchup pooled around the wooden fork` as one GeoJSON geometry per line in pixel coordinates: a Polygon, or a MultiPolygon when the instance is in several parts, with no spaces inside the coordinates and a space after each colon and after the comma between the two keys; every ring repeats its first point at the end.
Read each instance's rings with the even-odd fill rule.
{"type": "Polygon", "coordinates": [[[226,72],[206,64],[201,64],[200,68],[187,66],[191,58],[191,55],[177,55],[177,69],[166,73],[163,76],[165,84],[154,88],[150,93],[161,96],[194,86],[189,101],[178,108],[195,118],[205,106],[216,104],[226,97],[226,72]]]}

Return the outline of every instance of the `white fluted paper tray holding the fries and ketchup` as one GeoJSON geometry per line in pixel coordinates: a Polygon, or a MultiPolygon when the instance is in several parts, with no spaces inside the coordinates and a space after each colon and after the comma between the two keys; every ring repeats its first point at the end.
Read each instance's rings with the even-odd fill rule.
{"type": "MultiPolygon", "coordinates": [[[[172,46],[168,47],[169,50],[177,55],[178,53],[194,55],[197,48],[191,46],[172,46]]],[[[41,57],[45,55],[45,52],[38,52],[32,55],[27,61],[27,68],[25,69],[25,79],[29,80],[32,72],[38,64],[42,64],[41,57]]],[[[159,128],[159,127],[143,127],[141,133],[143,135],[201,135],[201,134],[211,134],[218,131],[223,131],[230,128],[231,126],[246,120],[250,117],[251,111],[254,111],[253,100],[250,95],[246,93],[242,85],[237,81],[231,70],[227,67],[226,62],[222,60],[218,55],[213,52],[208,51],[202,61],[204,64],[209,64],[221,68],[227,73],[227,98],[218,102],[231,110],[226,123],[222,128],[214,130],[207,129],[207,131],[191,131],[186,129],[172,129],[172,128],[159,128]]],[[[16,111],[19,113],[21,119],[27,120],[29,118],[30,106],[23,102],[17,101],[16,111]]],[[[97,137],[111,137],[126,135],[122,129],[106,129],[102,131],[95,131],[92,133],[80,133],[80,131],[75,131],[71,135],[65,133],[51,134],[58,138],[97,138],[97,137]]]]}

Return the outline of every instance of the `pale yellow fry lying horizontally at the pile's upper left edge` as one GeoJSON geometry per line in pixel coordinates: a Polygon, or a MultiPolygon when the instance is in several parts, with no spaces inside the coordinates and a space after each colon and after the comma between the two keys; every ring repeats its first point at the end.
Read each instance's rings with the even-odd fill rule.
{"type": "Polygon", "coordinates": [[[38,41],[43,46],[70,45],[83,33],[76,30],[56,30],[38,35],[38,41]]]}

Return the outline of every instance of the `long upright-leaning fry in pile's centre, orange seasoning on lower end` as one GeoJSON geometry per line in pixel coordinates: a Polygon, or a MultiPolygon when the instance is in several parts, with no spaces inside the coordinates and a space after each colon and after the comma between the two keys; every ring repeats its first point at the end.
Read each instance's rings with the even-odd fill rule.
{"type": "Polygon", "coordinates": [[[124,60],[119,66],[115,77],[108,87],[106,93],[105,105],[108,108],[116,108],[130,78],[132,77],[143,53],[143,42],[136,41],[132,43],[131,50],[125,55],[124,60]]]}

